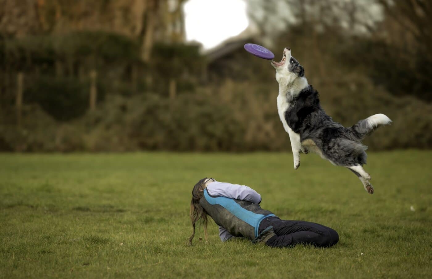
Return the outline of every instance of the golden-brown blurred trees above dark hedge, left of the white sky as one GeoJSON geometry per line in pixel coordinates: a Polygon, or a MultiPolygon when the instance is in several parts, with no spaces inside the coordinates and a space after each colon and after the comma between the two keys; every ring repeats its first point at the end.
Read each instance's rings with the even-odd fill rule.
{"type": "Polygon", "coordinates": [[[185,0],[0,0],[0,33],[113,32],[138,39],[148,62],[155,42],[184,42],[185,0]]]}

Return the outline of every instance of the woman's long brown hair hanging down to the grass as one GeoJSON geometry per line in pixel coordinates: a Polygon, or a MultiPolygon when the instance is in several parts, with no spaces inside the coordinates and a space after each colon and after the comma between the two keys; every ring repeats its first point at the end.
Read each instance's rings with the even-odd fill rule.
{"type": "Polygon", "coordinates": [[[192,189],[191,221],[192,221],[192,228],[194,228],[194,231],[192,232],[191,237],[189,237],[189,245],[192,244],[192,239],[195,236],[195,224],[197,223],[198,220],[201,220],[201,222],[203,223],[204,235],[206,237],[206,241],[208,239],[207,212],[200,205],[200,200],[203,197],[204,189],[206,189],[206,184],[205,184],[206,179],[208,178],[206,177],[198,181],[198,183],[195,184],[194,189],[192,189]]]}

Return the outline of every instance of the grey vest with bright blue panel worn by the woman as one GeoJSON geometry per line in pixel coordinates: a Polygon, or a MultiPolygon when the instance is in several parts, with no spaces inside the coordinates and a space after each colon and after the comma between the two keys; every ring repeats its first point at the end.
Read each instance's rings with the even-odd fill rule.
{"type": "Polygon", "coordinates": [[[257,203],[211,196],[207,189],[204,189],[200,205],[216,224],[226,228],[230,234],[247,237],[250,240],[258,236],[261,221],[274,216],[270,211],[260,208],[257,203]]]}

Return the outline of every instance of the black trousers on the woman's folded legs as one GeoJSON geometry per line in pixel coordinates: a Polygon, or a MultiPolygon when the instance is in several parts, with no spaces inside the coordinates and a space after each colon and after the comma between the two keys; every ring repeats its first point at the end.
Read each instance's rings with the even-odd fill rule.
{"type": "Polygon", "coordinates": [[[270,247],[292,247],[299,243],[330,247],[339,241],[339,235],[334,229],[316,223],[281,220],[272,216],[261,221],[259,232],[268,226],[273,226],[276,234],[266,242],[270,247]]]}

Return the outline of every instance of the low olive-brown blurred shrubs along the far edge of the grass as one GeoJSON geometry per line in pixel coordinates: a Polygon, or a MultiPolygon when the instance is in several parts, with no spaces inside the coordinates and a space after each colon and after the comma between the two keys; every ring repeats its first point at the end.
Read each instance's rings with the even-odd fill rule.
{"type": "MultiPolygon", "coordinates": [[[[367,80],[352,87],[322,85],[321,103],[335,121],[351,126],[375,113],[393,123],[367,137],[373,150],[432,147],[432,106],[395,99],[367,80]]],[[[168,99],[155,94],[107,96],[95,111],[56,122],[37,105],[25,106],[22,128],[14,111],[0,123],[0,148],[16,151],[290,151],[276,109],[277,84],[235,83],[168,99]],[[273,88],[273,89],[272,89],[273,88]]]]}

